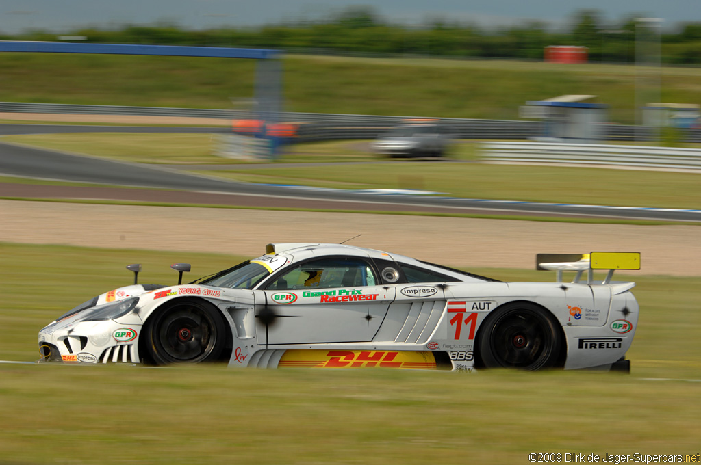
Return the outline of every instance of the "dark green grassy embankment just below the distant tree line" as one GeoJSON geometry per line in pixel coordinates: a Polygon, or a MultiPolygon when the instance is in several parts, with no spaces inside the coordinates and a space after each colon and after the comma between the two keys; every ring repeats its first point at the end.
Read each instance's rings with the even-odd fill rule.
{"type": "MultiPolygon", "coordinates": [[[[635,121],[630,65],[287,55],[286,111],[517,119],[527,100],[599,95],[635,121]]],[[[650,73],[650,70],[643,70],[650,73]]],[[[0,101],[232,108],[253,96],[253,60],[5,53],[0,101]]],[[[661,102],[696,103],[701,69],[660,71],[661,102]]],[[[644,95],[646,88],[639,87],[644,95]]],[[[654,93],[652,95],[655,95],[654,93]]]]}

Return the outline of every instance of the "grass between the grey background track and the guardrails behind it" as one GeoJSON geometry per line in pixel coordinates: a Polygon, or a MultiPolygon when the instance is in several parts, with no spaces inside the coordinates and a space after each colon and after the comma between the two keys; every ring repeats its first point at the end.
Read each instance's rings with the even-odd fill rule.
{"type": "MultiPolygon", "coordinates": [[[[212,155],[207,134],[39,134],[3,140],[74,153],[155,164],[217,165],[231,160],[212,155]]],[[[201,171],[237,181],[296,184],[324,188],[402,188],[430,190],[455,197],[530,202],[695,209],[701,204],[699,174],[586,167],[484,165],[477,144],[456,144],[463,162],[416,162],[379,158],[362,141],[291,146],[279,162],[201,171]],[[365,162],[309,166],[310,163],[365,162]],[[280,163],[299,163],[297,166],[280,163]],[[674,188],[672,188],[674,186],[674,188]]]]}

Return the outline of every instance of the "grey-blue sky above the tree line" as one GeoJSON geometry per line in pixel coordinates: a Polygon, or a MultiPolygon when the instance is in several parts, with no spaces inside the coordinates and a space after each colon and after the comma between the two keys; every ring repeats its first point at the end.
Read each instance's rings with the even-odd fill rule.
{"type": "Polygon", "coordinates": [[[631,17],[660,18],[664,29],[701,22],[700,0],[2,0],[0,33],[28,29],[66,33],[80,27],[118,29],[158,22],[184,29],[255,27],[319,20],[360,5],[372,6],[389,22],[406,25],[444,18],[489,28],[537,20],[557,29],[571,24],[583,9],[598,11],[611,27],[631,17]]]}

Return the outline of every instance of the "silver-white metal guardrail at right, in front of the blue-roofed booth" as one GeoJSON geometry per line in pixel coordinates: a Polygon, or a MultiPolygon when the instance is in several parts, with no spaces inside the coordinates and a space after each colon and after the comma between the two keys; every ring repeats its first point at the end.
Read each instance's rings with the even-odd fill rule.
{"type": "Polygon", "coordinates": [[[616,165],[651,169],[701,170],[701,150],[654,146],[564,144],[560,142],[486,142],[482,160],[578,165],[616,165]]]}

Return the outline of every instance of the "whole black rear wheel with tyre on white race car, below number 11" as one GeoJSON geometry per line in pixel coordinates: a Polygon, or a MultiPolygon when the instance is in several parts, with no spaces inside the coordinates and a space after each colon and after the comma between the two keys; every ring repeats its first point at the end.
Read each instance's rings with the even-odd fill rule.
{"type": "Polygon", "coordinates": [[[475,342],[485,368],[540,370],[557,364],[562,330],[543,307],[515,302],[491,312],[475,342]]]}

